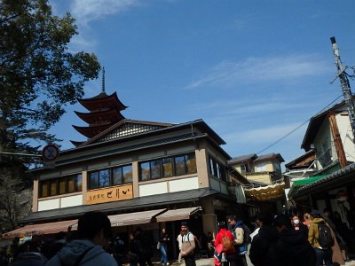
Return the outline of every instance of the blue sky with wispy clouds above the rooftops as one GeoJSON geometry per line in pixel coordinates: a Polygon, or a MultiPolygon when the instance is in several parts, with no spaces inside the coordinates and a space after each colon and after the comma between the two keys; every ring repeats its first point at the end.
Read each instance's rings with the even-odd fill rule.
{"type": "MultiPolygon", "coordinates": [[[[232,157],[259,153],[342,95],[329,38],[343,65],[355,65],[353,0],[51,0],[70,12],[80,35],[72,51],[92,51],[106,69],[106,93],[117,91],[133,120],[182,123],[202,119],[232,157]]],[[[351,86],[354,82],[351,82],[351,86]]],[[[351,88],[353,91],[355,88],[351,88]]],[[[101,78],[85,85],[85,98],[101,78]]],[[[339,100],[338,100],[339,101],[339,100]]],[[[81,141],[74,111],[51,129],[81,141]]],[[[307,123],[264,153],[286,162],[300,148],[307,123]]]]}

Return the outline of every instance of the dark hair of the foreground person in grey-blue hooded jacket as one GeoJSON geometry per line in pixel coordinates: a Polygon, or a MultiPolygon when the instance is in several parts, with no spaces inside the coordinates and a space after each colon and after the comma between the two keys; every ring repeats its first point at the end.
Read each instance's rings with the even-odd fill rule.
{"type": "Polygon", "coordinates": [[[111,223],[106,214],[87,212],[79,218],[77,230],[79,239],[93,239],[101,230],[107,239],[111,238],[111,223]]]}

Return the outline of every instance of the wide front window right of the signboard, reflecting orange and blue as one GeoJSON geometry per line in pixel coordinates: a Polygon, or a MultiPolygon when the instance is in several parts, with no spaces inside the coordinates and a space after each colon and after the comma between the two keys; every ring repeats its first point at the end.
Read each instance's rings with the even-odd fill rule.
{"type": "Polygon", "coordinates": [[[139,164],[140,181],[194,173],[197,173],[194,153],[143,161],[139,164]]]}

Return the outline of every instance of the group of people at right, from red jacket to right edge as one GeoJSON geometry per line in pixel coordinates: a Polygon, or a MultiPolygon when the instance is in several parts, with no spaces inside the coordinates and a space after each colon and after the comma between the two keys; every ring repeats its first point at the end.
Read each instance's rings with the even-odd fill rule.
{"type": "MultiPolygon", "coordinates": [[[[247,266],[247,248],[249,260],[255,266],[344,265],[348,259],[347,243],[329,210],[325,209],[324,215],[313,210],[311,214],[300,216],[259,213],[256,230],[249,235],[250,245],[241,219],[228,216],[228,225],[218,223],[215,265],[247,266]]],[[[354,239],[351,231],[347,231],[345,239],[354,239]]]]}

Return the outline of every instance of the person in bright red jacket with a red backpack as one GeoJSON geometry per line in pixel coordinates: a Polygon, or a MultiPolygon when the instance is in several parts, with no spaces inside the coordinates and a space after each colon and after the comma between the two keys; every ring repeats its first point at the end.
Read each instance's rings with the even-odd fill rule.
{"type": "Polygon", "coordinates": [[[218,229],[215,239],[215,265],[228,262],[229,266],[237,266],[237,251],[233,246],[233,234],[226,229],[225,222],[218,223],[218,229]],[[226,261],[225,261],[226,260],[226,261]]]}

